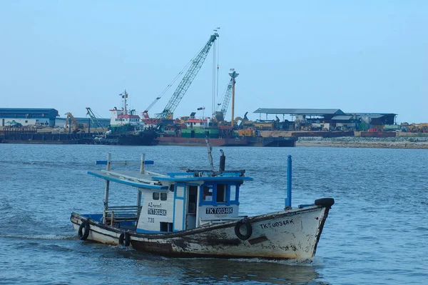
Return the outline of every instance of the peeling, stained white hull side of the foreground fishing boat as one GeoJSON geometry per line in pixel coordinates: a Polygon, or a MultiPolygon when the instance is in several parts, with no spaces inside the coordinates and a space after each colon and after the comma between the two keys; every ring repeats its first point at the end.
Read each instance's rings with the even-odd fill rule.
{"type": "MultiPolygon", "coordinates": [[[[131,246],[138,251],[165,256],[309,259],[315,255],[330,207],[308,206],[249,217],[253,234],[247,240],[235,235],[235,221],[201,226],[188,231],[141,234],[130,231],[131,246]]],[[[118,244],[121,229],[71,214],[74,229],[88,220],[88,240],[118,244]]]]}

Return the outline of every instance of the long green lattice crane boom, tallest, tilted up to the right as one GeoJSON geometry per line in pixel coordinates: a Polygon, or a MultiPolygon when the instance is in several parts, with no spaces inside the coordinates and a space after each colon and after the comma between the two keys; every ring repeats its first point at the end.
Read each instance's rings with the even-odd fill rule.
{"type": "Polygon", "coordinates": [[[198,71],[200,70],[200,67],[205,61],[208,52],[211,49],[211,46],[213,46],[213,43],[217,38],[217,33],[210,36],[210,39],[208,39],[205,46],[203,46],[203,49],[201,49],[199,54],[195,56],[195,59],[190,65],[188,71],[185,73],[180,84],[178,84],[177,89],[175,89],[170,101],[168,101],[168,104],[166,104],[165,109],[163,109],[161,114],[158,114],[158,116],[156,116],[156,119],[166,119],[168,117],[172,118],[175,108],[177,108],[178,103],[180,103],[181,99],[183,99],[185,92],[188,90],[190,84],[192,84],[192,81],[193,79],[195,79],[196,74],[198,74],[198,71]]]}

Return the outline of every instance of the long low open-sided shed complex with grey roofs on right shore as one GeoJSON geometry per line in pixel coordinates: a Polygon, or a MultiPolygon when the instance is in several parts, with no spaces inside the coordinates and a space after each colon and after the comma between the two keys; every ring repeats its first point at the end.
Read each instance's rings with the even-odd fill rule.
{"type": "MultiPolygon", "coordinates": [[[[285,130],[317,130],[317,131],[367,131],[368,129],[383,129],[393,125],[397,114],[391,113],[345,113],[340,109],[269,109],[259,108],[254,111],[259,114],[259,121],[277,121],[282,115],[284,124],[280,129],[285,130]],[[265,114],[265,119],[262,119],[265,114]],[[269,120],[268,115],[275,115],[275,120],[269,120]],[[290,115],[292,121],[285,120],[290,115]],[[294,119],[294,121],[293,121],[294,119]]],[[[280,124],[281,126],[281,124],[280,124]]]]}

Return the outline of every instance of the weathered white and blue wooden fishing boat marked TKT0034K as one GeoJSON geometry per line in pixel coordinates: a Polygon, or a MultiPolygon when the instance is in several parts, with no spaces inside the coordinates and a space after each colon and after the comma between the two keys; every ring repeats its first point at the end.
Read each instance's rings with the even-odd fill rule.
{"type": "MultiPolygon", "coordinates": [[[[207,139],[208,140],[208,139],[207,139]]],[[[99,214],[71,214],[78,238],[103,244],[132,246],[137,251],[163,256],[310,259],[315,255],[322,229],[334,199],[291,206],[291,156],[287,165],[285,208],[257,216],[240,216],[243,184],[252,181],[245,170],[225,170],[220,150],[216,170],[208,146],[210,169],[187,169],[158,174],[141,161],[112,161],[106,169],[88,171],[105,180],[104,209],[99,214]],[[138,164],[139,169],[113,170],[113,164],[138,164]],[[110,184],[136,190],[136,204],[113,206],[110,184]]],[[[128,167],[128,166],[127,166],[128,167]]],[[[129,193],[121,191],[122,195],[129,193]]]]}

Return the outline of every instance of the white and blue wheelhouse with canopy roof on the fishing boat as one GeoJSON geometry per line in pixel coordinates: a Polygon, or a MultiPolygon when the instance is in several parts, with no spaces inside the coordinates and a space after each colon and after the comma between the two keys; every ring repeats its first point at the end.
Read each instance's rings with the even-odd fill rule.
{"type": "MultiPolygon", "coordinates": [[[[108,162],[109,164],[111,162],[108,162]]],[[[127,161],[127,163],[130,163],[127,161]]],[[[151,161],[145,161],[151,163],[151,161]]],[[[143,167],[143,166],[142,166],[143,167]]],[[[230,171],[221,176],[203,177],[201,172],[156,174],[141,171],[88,171],[88,174],[138,188],[136,206],[109,206],[106,189],[105,208],[99,221],[138,233],[163,233],[195,229],[213,222],[240,219],[239,189],[245,171],[230,171]],[[126,210],[126,213],[121,211],[126,210]],[[125,215],[122,214],[131,214],[125,215]]]]}

